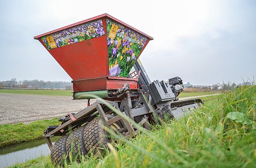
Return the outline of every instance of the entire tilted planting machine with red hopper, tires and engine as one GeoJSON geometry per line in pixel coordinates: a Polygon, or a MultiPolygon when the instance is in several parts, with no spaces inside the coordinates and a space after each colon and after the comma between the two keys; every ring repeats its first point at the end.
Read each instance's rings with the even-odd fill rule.
{"type": "Polygon", "coordinates": [[[63,164],[70,152],[101,151],[111,141],[106,128],[126,138],[136,136],[139,129],[126,117],[150,129],[159,119],[180,118],[202,104],[200,99],[178,100],[183,91],[179,77],[151,82],[138,58],[153,38],[108,14],[34,39],[72,78],[73,99],[88,100],[86,108],[61,117],[61,125],[44,130],[55,165],[63,164]],[[94,98],[105,101],[90,103],[94,98]],[[62,138],[53,145],[53,136],[62,138]]]}

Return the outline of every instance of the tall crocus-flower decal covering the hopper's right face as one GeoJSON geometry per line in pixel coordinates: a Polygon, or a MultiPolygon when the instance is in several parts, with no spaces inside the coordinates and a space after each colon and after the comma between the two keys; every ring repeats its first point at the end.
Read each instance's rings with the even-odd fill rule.
{"type": "Polygon", "coordinates": [[[147,38],[106,19],[109,75],[128,78],[147,38]]]}

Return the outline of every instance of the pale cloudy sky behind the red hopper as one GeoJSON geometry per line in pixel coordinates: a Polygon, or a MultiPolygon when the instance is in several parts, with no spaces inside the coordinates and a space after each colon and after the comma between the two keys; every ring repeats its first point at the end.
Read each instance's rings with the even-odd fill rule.
{"type": "Polygon", "coordinates": [[[154,38],[140,56],[151,81],[256,78],[255,0],[0,0],[0,81],[71,81],[33,37],[103,13],[154,38]]]}

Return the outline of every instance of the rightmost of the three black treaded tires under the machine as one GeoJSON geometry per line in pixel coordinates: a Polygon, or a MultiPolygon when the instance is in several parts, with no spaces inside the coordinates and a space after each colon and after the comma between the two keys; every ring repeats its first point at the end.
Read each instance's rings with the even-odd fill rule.
{"type": "MultiPolygon", "coordinates": [[[[106,116],[108,120],[114,117],[113,115],[106,116]]],[[[111,125],[111,127],[114,127],[114,129],[120,129],[119,125],[116,123],[111,125]]],[[[104,129],[104,125],[100,117],[90,121],[84,129],[84,145],[86,150],[91,150],[93,154],[102,153],[102,148],[110,142],[108,134],[109,133],[106,133],[106,130],[104,129]]]]}

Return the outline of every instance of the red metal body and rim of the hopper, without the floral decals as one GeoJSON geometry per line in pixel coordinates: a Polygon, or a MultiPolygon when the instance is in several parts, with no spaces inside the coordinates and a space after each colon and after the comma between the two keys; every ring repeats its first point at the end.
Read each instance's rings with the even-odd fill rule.
{"type": "Polygon", "coordinates": [[[43,46],[48,50],[41,39],[42,37],[53,34],[60,30],[84,24],[86,22],[102,19],[103,28],[105,31],[104,36],[48,50],[53,58],[73,79],[74,92],[118,89],[121,88],[124,83],[128,83],[131,89],[137,89],[137,78],[131,79],[109,76],[106,18],[109,18],[120,25],[126,26],[139,34],[146,36],[148,39],[141,52],[144,50],[148,42],[153,39],[149,35],[127,25],[124,22],[119,21],[115,17],[108,14],[102,14],[97,17],[77,22],[75,24],[34,37],[34,39],[38,39],[40,43],[42,43],[43,46]]]}

